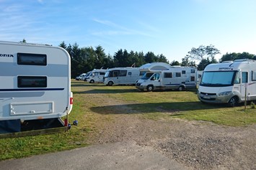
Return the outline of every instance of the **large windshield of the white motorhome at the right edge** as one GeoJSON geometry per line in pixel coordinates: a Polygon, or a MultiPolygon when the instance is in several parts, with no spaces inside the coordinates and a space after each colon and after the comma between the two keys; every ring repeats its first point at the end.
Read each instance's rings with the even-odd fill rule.
{"type": "Polygon", "coordinates": [[[236,71],[228,71],[228,72],[203,72],[203,77],[200,82],[201,86],[206,87],[224,87],[230,86],[234,84],[234,76],[236,71]]]}

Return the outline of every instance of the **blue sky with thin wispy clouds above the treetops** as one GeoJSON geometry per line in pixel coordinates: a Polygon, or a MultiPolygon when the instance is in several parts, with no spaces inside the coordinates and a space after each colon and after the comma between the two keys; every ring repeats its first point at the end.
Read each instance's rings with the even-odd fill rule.
{"type": "Polygon", "coordinates": [[[255,0],[0,0],[0,10],[1,41],[101,45],[169,62],[210,44],[256,55],[255,0]]]}

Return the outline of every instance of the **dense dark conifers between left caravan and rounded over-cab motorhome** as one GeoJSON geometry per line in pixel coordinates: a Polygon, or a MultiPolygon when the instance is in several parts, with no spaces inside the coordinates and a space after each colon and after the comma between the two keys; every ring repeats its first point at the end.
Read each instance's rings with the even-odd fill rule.
{"type": "Polygon", "coordinates": [[[164,55],[154,55],[153,52],[128,52],[126,49],[119,49],[112,57],[110,54],[105,54],[105,49],[100,45],[93,47],[80,48],[77,43],[67,46],[65,42],[59,44],[60,47],[69,52],[71,57],[71,77],[74,78],[82,72],[89,72],[91,70],[100,68],[112,67],[140,67],[148,62],[168,62],[164,55]]]}

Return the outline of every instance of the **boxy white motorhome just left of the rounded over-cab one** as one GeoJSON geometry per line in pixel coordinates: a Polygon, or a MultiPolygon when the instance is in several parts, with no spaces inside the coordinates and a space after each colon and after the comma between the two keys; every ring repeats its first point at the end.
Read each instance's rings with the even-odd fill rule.
{"type": "Polygon", "coordinates": [[[105,85],[135,85],[144,72],[138,67],[116,67],[107,70],[104,76],[105,85]]]}

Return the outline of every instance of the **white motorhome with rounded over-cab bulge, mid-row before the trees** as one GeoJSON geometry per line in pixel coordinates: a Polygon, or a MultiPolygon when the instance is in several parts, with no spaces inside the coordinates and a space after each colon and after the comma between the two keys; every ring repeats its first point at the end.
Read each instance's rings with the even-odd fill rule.
{"type": "Polygon", "coordinates": [[[136,82],[139,90],[183,90],[196,88],[197,69],[195,67],[170,66],[164,62],[153,62],[141,66],[145,75],[136,82]]]}

